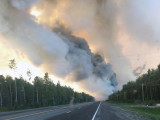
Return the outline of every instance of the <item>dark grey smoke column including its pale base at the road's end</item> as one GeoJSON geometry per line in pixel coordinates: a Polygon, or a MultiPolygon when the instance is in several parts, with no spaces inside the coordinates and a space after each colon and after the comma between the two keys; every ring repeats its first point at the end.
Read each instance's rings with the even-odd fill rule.
{"type": "Polygon", "coordinates": [[[56,24],[53,31],[69,46],[65,58],[72,66],[72,72],[68,79],[77,80],[80,84],[82,81],[82,87],[99,94],[99,99],[113,93],[117,79],[111,64],[106,64],[101,55],[93,54],[84,39],[73,36],[62,25],[56,24]]]}

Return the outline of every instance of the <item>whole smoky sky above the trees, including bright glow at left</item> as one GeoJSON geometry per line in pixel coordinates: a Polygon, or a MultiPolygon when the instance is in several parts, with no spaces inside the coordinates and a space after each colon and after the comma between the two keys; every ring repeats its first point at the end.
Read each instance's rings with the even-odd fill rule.
{"type": "MultiPolygon", "coordinates": [[[[137,74],[156,68],[160,63],[159,0],[0,2],[0,74],[22,75],[28,79],[28,69],[32,78],[49,72],[55,83],[59,80],[62,85],[85,91],[97,99],[107,99],[123,84],[135,81],[137,74]],[[93,56],[99,54],[103,57],[103,65],[108,66],[107,76],[97,78],[92,74],[92,62],[86,53],[80,58],[68,55],[66,61],[73,41],[64,42],[69,38],[61,35],[61,31],[53,30],[57,22],[71,31],[69,34],[77,37],[75,39],[84,38],[90,49],[88,52],[93,56]],[[16,73],[8,68],[10,59],[17,62],[16,73]],[[135,75],[136,68],[141,72],[137,70],[135,75]],[[86,71],[89,77],[73,80],[77,73],[84,75],[82,71],[86,71]],[[114,73],[118,85],[112,85],[114,73]]],[[[74,51],[83,53],[77,49],[74,51]]]]}

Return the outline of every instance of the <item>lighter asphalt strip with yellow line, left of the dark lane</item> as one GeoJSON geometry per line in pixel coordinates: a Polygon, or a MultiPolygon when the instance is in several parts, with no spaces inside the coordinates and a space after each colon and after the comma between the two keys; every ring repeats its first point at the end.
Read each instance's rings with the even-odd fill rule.
{"type": "Polygon", "coordinates": [[[69,114],[72,111],[76,111],[86,106],[94,104],[95,104],[94,102],[90,102],[90,103],[76,104],[72,106],[71,105],[53,106],[40,109],[0,113],[0,120],[46,120],[53,116],[69,114]]]}

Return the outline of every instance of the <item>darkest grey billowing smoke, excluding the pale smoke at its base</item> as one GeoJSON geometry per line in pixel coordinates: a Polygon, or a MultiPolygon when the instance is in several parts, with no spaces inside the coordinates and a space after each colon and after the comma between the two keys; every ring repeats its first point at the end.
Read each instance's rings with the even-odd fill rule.
{"type": "Polygon", "coordinates": [[[84,39],[71,35],[62,25],[56,24],[55,26],[53,31],[69,46],[66,60],[75,64],[73,68],[75,80],[84,80],[90,75],[95,75],[102,80],[111,80],[113,86],[117,85],[111,64],[106,64],[101,55],[93,54],[84,39]]]}

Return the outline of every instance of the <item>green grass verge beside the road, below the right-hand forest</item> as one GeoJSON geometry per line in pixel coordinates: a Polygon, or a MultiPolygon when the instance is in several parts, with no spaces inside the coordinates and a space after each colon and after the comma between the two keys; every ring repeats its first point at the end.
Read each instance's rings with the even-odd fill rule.
{"type": "Polygon", "coordinates": [[[144,107],[121,107],[130,112],[137,113],[152,120],[160,120],[160,108],[144,108],[144,107]]]}

